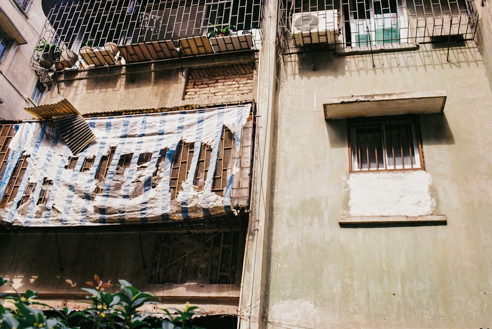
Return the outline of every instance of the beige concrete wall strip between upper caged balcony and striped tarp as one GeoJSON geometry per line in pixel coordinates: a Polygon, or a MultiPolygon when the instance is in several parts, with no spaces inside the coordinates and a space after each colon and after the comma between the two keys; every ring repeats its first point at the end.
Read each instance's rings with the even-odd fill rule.
{"type": "Polygon", "coordinates": [[[42,103],[52,104],[66,98],[80,113],[85,114],[251,100],[255,89],[248,90],[246,94],[203,94],[193,99],[184,99],[184,93],[188,68],[220,67],[252,61],[252,53],[246,53],[65,72],[42,103]]]}

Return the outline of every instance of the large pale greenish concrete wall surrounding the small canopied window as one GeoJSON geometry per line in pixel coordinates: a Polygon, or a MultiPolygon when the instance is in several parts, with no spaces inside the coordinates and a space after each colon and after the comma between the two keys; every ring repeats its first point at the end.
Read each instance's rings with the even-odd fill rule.
{"type": "Polygon", "coordinates": [[[375,67],[370,55],[281,58],[260,327],[492,325],[491,90],[474,42],[452,47],[449,62],[446,52],[374,54],[375,67]],[[419,116],[433,213],[447,224],[340,227],[350,214],[347,121],[325,121],[323,98],[431,90],[447,92],[444,114],[419,116]]]}

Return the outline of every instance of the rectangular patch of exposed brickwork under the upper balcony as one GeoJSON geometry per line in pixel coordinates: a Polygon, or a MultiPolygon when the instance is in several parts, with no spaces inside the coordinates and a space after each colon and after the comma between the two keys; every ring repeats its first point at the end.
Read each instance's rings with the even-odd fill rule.
{"type": "Polygon", "coordinates": [[[184,99],[248,95],[253,71],[253,63],[190,69],[184,99]]]}

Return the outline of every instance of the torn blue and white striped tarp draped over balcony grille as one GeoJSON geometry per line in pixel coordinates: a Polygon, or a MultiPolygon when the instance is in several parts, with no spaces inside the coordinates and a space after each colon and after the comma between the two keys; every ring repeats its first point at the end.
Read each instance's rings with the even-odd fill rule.
{"type": "MultiPolygon", "coordinates": [[[[220,136],[224,126],[241,140],[250,104],[207,110],[168,112],[161,114],[87,119],[96,139],[78,156],[75,168],[66,168],[71,152],[55,125],[46,121],[29,121],[19,125],[10,142],[7,169],[0,181],[4,193],[9,177],[22,155],[30,155],[29,164],[15,198],[0,209],[0,222],[16,226],[80,226],[124,223],[146,223],[181,220],[231,211],[227,187],[224,197],[212,192],[208,175],[203,190],[193,186],[193,175],[183,183],[183,191],[170,200],[169,177],[173,153],[180,141],[195,143],[190,173],[194,173],[200,147],[212,148],[209,168],[215,168],[220,136]],[[101,157],[115,148],[106,179],[95,178],[101,157]],[[165,161],[158,170],[161,150],[167,149],[165,161]],[[145,166],[137,170],[141,153],[151,152],[145,166]],[[132,153],[130,167],[117,171],[121,155],[132,153]],[[81,171],[84,159],[94,158],[87,171],[81,171]],[[155,172],[154,172],[155,171],[155,172]],[[156,176],[154,176],[156,175],[156,176]],[[153,177],[154,176],[154,177],[153,177]],[[37,205],[43,182],[50,180],[48,200],[37,205]],[[156,184],[157,182],[157,184],[156,184]],[[29,183],[36,183],[29,200],[21,199],[29,183]],[[96,193],[95,189],[102,189],[96,193]]],[[[239,150],[239,148],[236,148],[239,150]]],[[[236,154],[236,161],[239,155],[236,154]]],[[[232,170],[231,176],[235,170],[232,170]]],[[[232,177],[233,178],[233,177],[232,177]]],[[[228,177],[232,181],[231,177],[228,177]]]]}

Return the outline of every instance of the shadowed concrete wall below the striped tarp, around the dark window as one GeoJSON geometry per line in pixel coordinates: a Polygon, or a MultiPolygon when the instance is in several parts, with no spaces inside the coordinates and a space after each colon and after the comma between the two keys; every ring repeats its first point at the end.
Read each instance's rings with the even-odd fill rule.
{"type": "MultiPolygon", "coordinates": [[[[34,233],[0,232],[0,276],[13,281],[18,291],[37,291],[40,299],[53,307],[62,303],[75,309],[87,307],[86,294],[80,288],[87,288],[86,282],[93,281],[97,274],[104,282],[116,284],[118,279],[125,279],[141,291],[156,294],[162,305],[146,308],[153,313],[164,314],[161,307],[182,308],[186,301],[205,311],[233,312],[239,302],[240,267],[236,284],[149,284],[155,270],[158,234],[158,231],[108,232],[107,229],[85,233],[60,229],[56,233],[52,229],[34,233]]],[[[177,247],[185,250],[181,254],[189,254],[188,259],[200,258],[201,251],[193,253],[193,248],[176,241],[177,247]]],[[[238,264],[241,264],[244,238],[239,246],[238,264]]],[[[6,291],[2,287],[2,292],[6,291]]]]}

